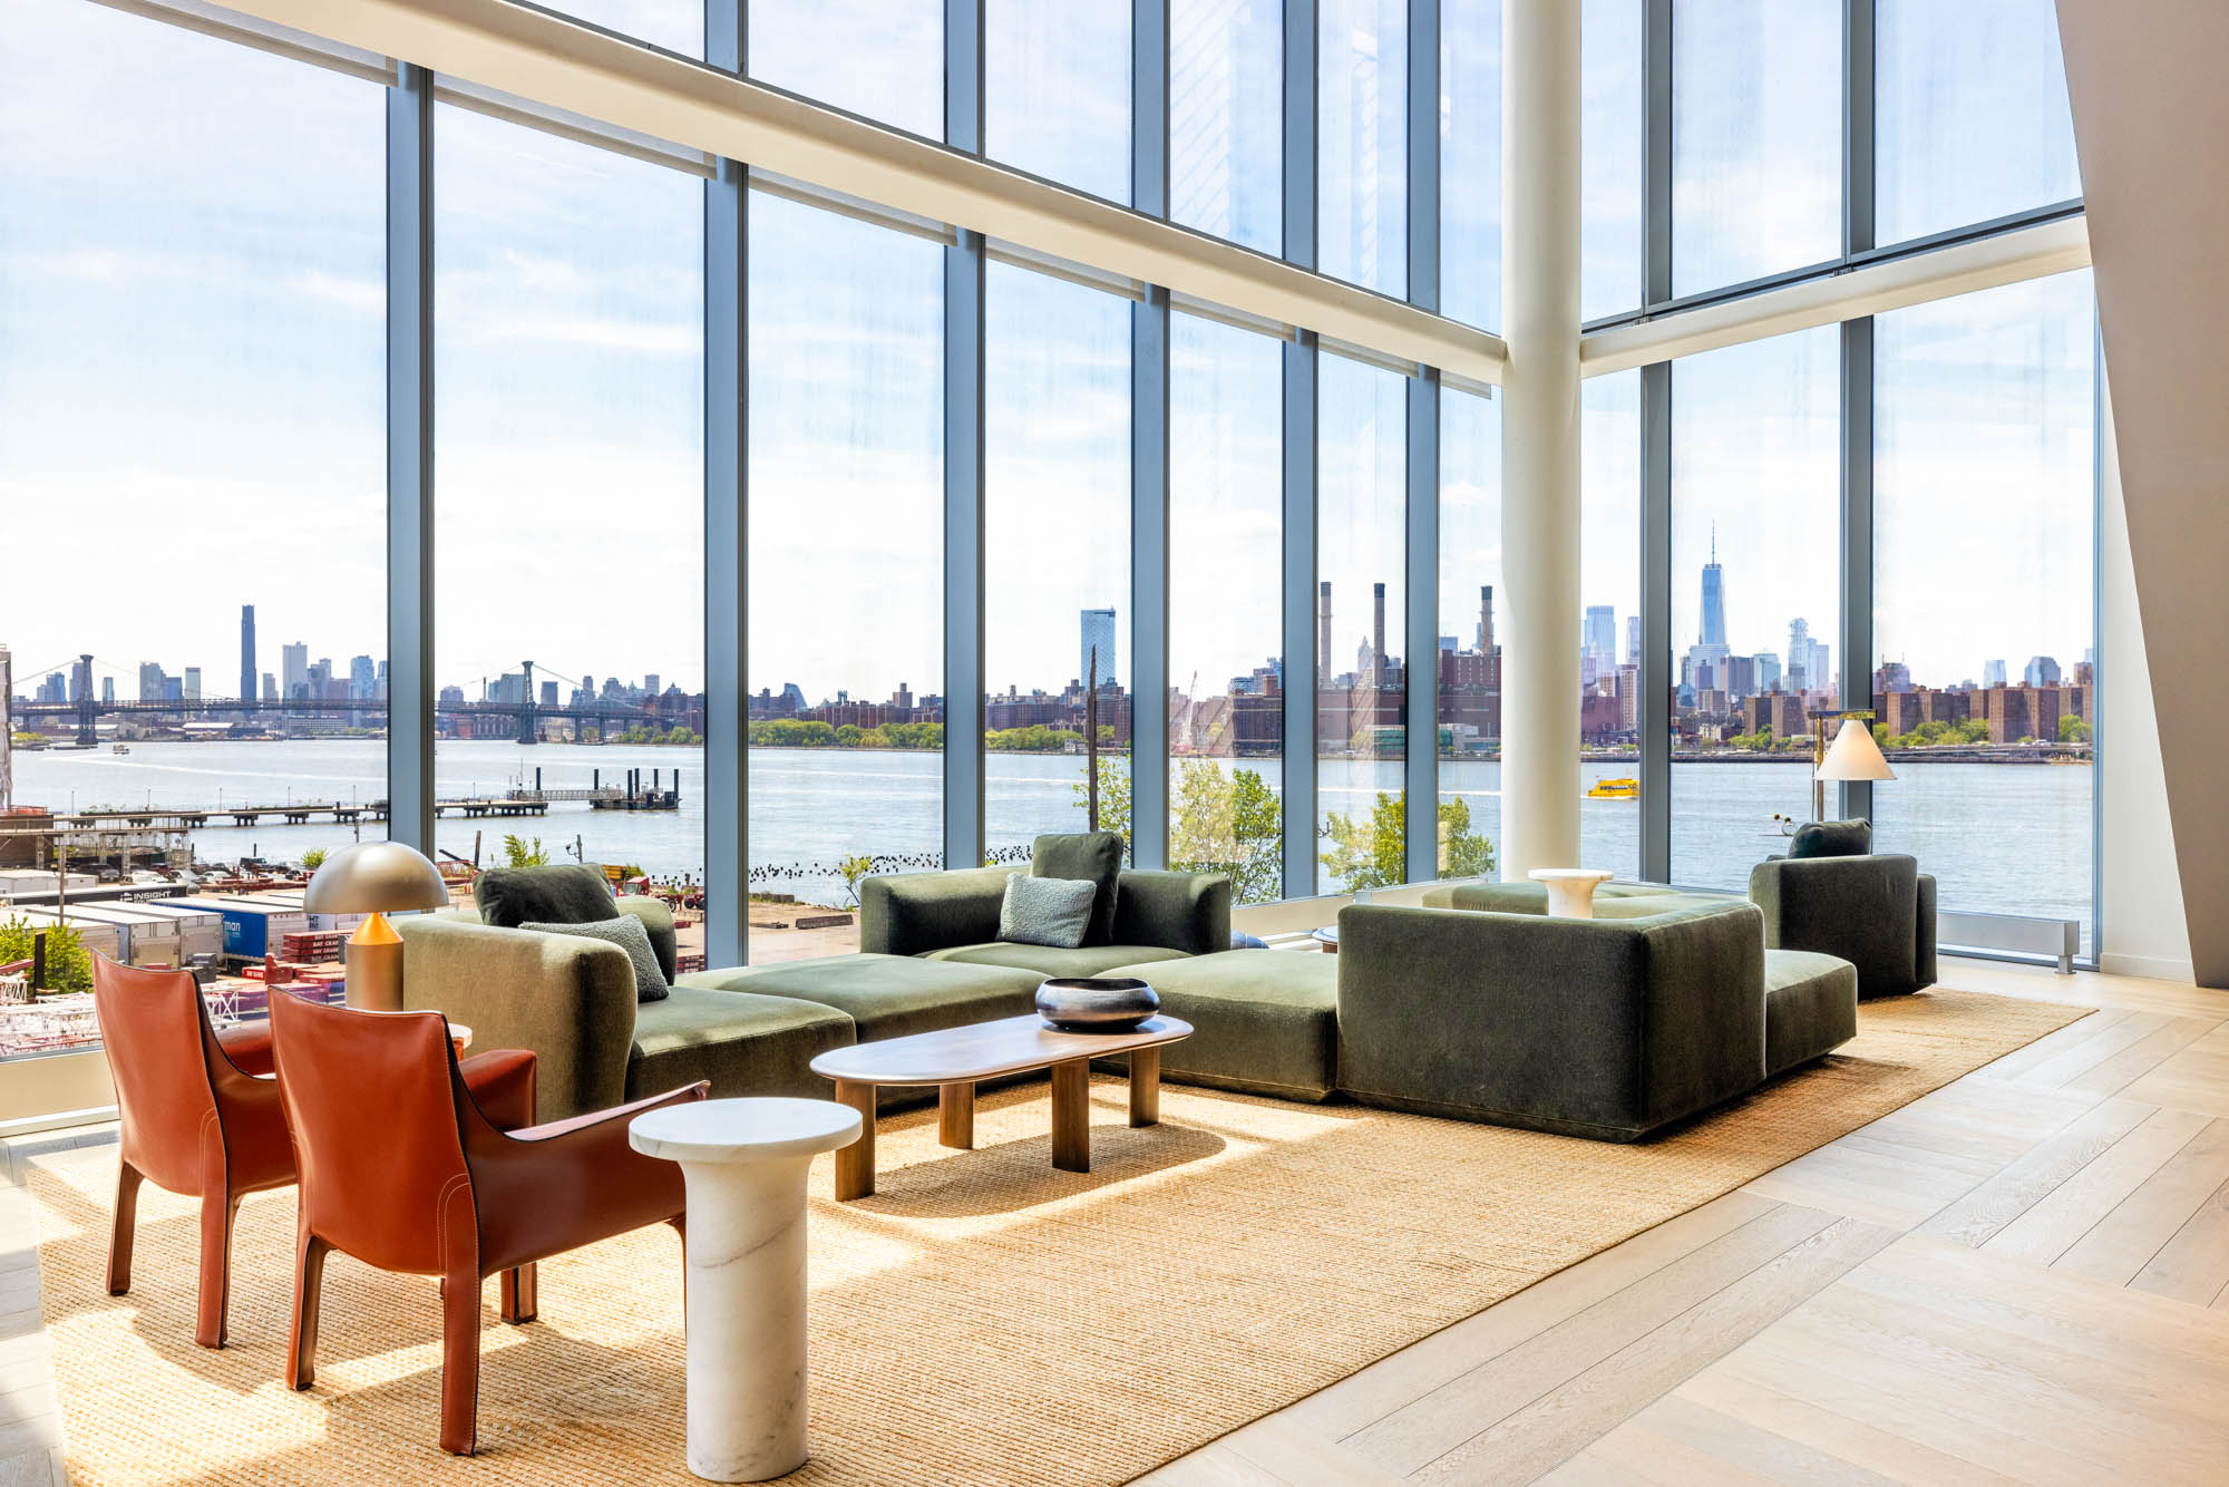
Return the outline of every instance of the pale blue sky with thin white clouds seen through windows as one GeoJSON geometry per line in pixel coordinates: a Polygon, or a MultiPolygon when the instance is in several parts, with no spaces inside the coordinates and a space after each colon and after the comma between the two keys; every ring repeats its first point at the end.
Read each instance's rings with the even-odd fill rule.
{"type": "MultiPolygon", "coordinates": [[[[1957,218],[1959,201],[1999,212],[2077,189],[2064,100],[2013,82],[2055,56],[2037,51],[2037,4],[2006,0],[1964,27],[1884,4],[1884,98],[1897,100],[1881,123],[1884,214],[1897,230],[1957,218]],[[1948,65],[1964,87],[1941,87],[1948,65]],[[1975,149],[1906,145],[1935,127],[1973,132],[1975,149]]],[[[562,9],[682,51],[700,40],[695,0],[562,9]]],[[[1072,11],[1052,0],[987,9],[996,154],[1123,192],[1119,9],[1094,9],[1106,36],[1057,25],[1072,11]]],[[[1683,91],[1690,145],[1721,140],[1710,172],[1696,149],[1674,163],[1681,201],[1714,203],[1681,218],[1683,288],[1801,259],[1832,210],[1790,183],[1832,178],[1817,163],[1826,29],[1812,11],[1839,7],[1770,7],[1754,49],[1741,29],[1705,29],[1712,9],[1754,11],[1698,7],[1685,29],[1694,45],[1716,38],[1723,87],[1683,91]],[[1741,109],[1772,127],[1741,129],[1741,109]]],[[[1382,132],[1364,125],[1384,78],[1364,42],[1400,13],[1326,11],[1351,62],[1333,76],[1326,138],[1351,158],[1378,158],[1382,132]]],[[[1172,78],[1193,91],[1175,103],[1197,109],[1179,114],[1197,127],[1172,145],[1179,214],[1273,245],[1273,136],[1253,125],[1277,96],[1275,7],[1190,16],[1213,25],[1177,36],[1188,67],[1172,78]]],[[[1451,312],[1491,323],[1498,210],[1478,183],[1498,158],[1493,7],[1447,16],[1442,134],[1458,174],[1442,281],[1451,312]]],[[[1587,0],[1589,317],[1638,297],[1636,16],[1638,0],[1587,0]]],[[[936,36],[927,0],[843,0],[756,7],[751,42],[778,82],[856,87],[854,107],[932,129],[941,74],[923,58],[936,36]]],[[[56,555],[11,566],[0,644],[18,678],[91,651],[125,696],[143,660],[198,664],[225,691],[241,604],[259,611],[263,671],[292,640],[343,669],[379,655],[381,89],[85,0],[9,0],[0,76],[0,506],[11,551],[56,555]]],[[[658,671],[695,689],[700,185],[448,105],[437,140],[437,676],[477,689],[533,658],[544,676],[658,671]]],[[[1342,272],[1398,259],[1395,205],[1393,192],[1326,201],[1342,272]]],[[[751,212],[751,682],[798,682],[816,700],[941,691],[941,250],[762,194],[751,212]]],[[[2031,653],[2071,667],[2091,644],[2091,319],[2075,274],[1879,321],[1877,631],[1921,680],[2031,653]]],[[[1097,604],[1117,609],[1128,669],[1128,305],[992,265],[987,330],[990,682],[1070,680],[1077,611],[1097,604]]],[[[1676,370],[1676,642],[1698,626],[1712,524],[1736,649],[1783,649],[1799,613],[1832,640],[1832,341],[1781,337],[1676,370]]],[[[1277,644],[1275,352],[1179,317],[1177,684],[1195,671],[1219,684],[1277,644]]],[[[1400,397],[1386,392],[1400,383],[1324,368],[1320,535],[1344,669],[1373,582],[1389,584],[1395,653],[1429,638],[1400,635],[1400,397]]],[[[1478,584],[1500,584],[1500,408],[1447,397],[1440,631],[1469,642],[1478,584]]],[[[1614,604],[1623,642],[1638,597],[1638,375],[1587,381],[1583,401],[1583,602],[1614,604]]]]}

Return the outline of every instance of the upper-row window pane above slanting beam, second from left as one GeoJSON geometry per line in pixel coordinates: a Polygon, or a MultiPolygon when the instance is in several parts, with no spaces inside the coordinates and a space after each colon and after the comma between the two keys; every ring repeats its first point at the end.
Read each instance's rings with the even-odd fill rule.
{"type": "Polygon", "coordinates": [[[945,0],[751,4],[751,78],[925,138],[945,136],[945,0]]]}

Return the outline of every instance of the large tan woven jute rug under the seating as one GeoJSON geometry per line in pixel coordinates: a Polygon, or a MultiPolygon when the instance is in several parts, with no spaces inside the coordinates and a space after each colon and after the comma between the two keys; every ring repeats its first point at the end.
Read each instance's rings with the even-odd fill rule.
{"type": "MultiPolygon", "coordinates": [[[[1605,1146],[1168,1086],[1126,1126],[1092,1086],[1088,1175],[1045,1086],[880,1126],[880,1193],[814,1166],[811,1442],[798,1483],[1121,1483],[1576,1260],[1863,1126],[2084,1008],[1937,990],[1663,1141],[1605,1146]]],[[[366,1112],[377,1139],[377,1112],[366,1112]]],[[[103,1289],[116,1148],[31,1170],[76,1483],[689,1483],[671,1228],[544,1262],[542,1320],[488,1295],[481,1456],[435,1447],[435,1282],[325,1269],[317,1389],[285,1360],[294,1195],[250,1197],[232,1344],[196,1349],[194,1211],[147,1188],[132,1295],[103,1289]]]]}

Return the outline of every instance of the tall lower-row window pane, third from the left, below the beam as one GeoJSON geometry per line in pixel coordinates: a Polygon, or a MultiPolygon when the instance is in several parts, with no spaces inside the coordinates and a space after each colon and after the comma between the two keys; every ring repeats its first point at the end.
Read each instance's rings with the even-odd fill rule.
{"type": "MultiPolygon", "coordinates": [[[[943,865],[945,250],[751,194],[751,959],[943,865]],[[785,901],[787,898],[787,901],[785,901]]],[[[856,941],[854,941],[856,943],[856,941]]]]}

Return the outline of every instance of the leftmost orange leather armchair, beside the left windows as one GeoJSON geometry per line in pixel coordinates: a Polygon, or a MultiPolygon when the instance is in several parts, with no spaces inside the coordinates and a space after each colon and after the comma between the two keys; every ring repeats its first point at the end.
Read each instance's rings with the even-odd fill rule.
{"type": "MultiPolygon", "coordinates": [[[[94,1017],[100,1019],[123,1121],[109,1295],[132,1289],[140,1182],[201,1197],[194,1342],[225,1347],[232,1219],[241,1197],[294,1182],[294,1146],[279,1083],[270,1079],[270,1026],[243,1023],[216,1032],[192,972],[118,965],[100,954],[94,956],[94,1017]]],[[[464,1068],[490,1119],[533,1124],[531,1052],[488,1052],[464,1068]]]]}

